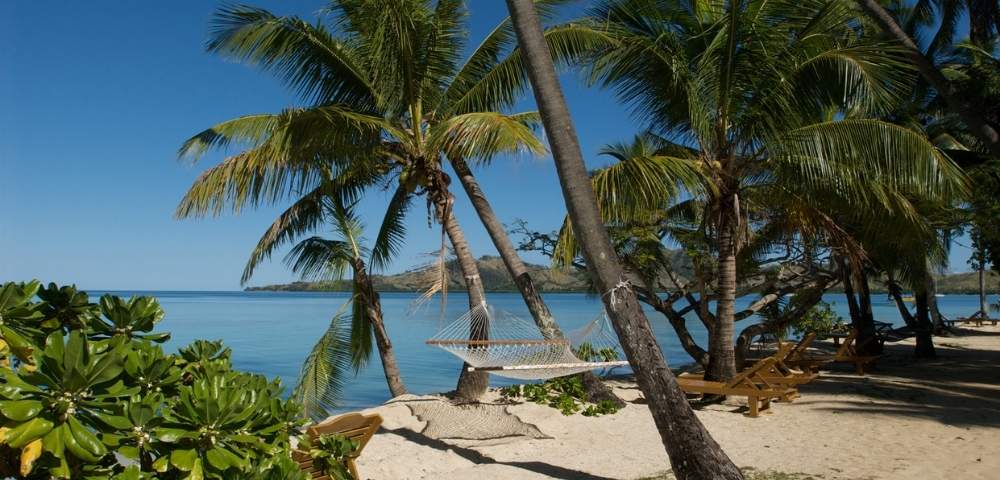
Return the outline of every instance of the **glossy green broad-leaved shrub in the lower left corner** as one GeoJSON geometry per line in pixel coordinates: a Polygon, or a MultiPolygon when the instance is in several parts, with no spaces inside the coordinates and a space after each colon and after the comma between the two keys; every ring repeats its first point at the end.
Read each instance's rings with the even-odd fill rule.
{"type": "MultiPolygon", "coordinates": [[[[0,287],[0,478],[302,480],[299,408],[221,342],[156,345],[152,297],[0,287]]],[[[325,445],[325,444],[324,444],[325,445]]]]}

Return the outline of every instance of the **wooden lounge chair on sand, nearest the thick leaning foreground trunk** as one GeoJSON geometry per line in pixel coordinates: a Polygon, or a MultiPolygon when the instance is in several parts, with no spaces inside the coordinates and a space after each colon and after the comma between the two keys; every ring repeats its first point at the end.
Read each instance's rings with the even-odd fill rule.
{"type": "Polygon", "coordinates": [[[677,377],[677,383],[686,393],[747,397],[747,403],[750,406],[747,415],[756,417],[760,412],[771,407],[772,398],[781,399],[795,394],[794,388],[774,384],[760,374],[761,371],[773,367],[774,357],[767,357],[743,370],[726,383],[705,380],[704,375],[699,378],[698,375],[687,374],[677,377]]]}

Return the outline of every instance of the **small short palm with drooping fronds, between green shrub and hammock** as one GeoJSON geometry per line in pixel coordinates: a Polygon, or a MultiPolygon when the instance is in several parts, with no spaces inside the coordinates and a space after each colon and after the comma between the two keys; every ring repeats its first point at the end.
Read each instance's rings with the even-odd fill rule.
{"type": "MultiPolygon", "coordinates": [[[[372,353],[372,339],[378,348],[385,372],[386,383],[393,397],[406,393],[400,377],[399,366],[393,353],[392,341],[385,329],[382,302],[372,285],[365,257],[370,252],[362,245],[361,222],[353,207],[347,207],[337,197],[319,200],[315,221],[319,225],[332,225],[336,239],[312,236],[299,241],[286,255],[285,263],[303,279],[342,280],[351,272],[350,325],[345,328],[343,311],[334,315],[330,326],[316,343],[302,366],[302,375],[294,396],[305,407],[306,413],[316,419],[327,415],[343,386],[346,367],[357,373],[367,364],[372,353]]],[[[245,276],[253,275],[255,267],[278,246],[294,241],[286,236],[272,241],[265,234],[245,269],[245,276]]]]}

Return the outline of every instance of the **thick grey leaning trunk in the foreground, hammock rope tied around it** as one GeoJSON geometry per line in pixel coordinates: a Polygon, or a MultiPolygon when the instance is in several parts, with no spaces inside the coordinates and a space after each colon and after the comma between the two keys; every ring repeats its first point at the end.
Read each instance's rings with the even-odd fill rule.
{"type": "Polygon", "coordinates": [[[580,239],[595,284],[605,292],[601,298],[652,411],[674,474],[681,480],[742,479],[742,473],[694,415],[677,379],[667,368],[635,292],[622,283],[625,272],[601,221],[534,2],[507,0],[507,9],[525,54],[573,231],[580,239]]]}

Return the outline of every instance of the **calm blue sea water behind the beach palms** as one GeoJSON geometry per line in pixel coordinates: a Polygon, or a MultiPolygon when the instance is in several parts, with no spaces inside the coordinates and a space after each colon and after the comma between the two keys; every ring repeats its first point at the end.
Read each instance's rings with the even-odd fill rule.
{"type": "MultiPolygon", "coordinates": [[[[91,291],[96,298],[105,292],[91,291]]],[[[298,375],[302,360],[316,339],[325,331],[330,317],[347,300],[346,293],[305,292],[110,292],[116,295],[152,295],[160,300],[166,317],[159,330],[173,334],[167,343],[168,350],[175,350],[198,338],[222,339],[233,349],[233,362],[237,368],[280,377],[290,390],[298,375]]],[[[468,308],[462,293],[452,293],[447,302],[444,320],[440,317],[440,304],[434,302],[418,309],[413,308],[412,293],[382,294],[386,326],[392,337],[403,380],[413,393],[432,393],[454,388],[461,363],[452,355],[424,344],[443,323],[454,320],[468,308]]],[[[592,321],[601,311],[600,299],[585,294],[549,294],[546,302],[564,330],[579,328],[592,321]]],[[[516,293],[490,293],[491,304],[503,310],[529,318],[527,308],[516,293]]],[[[752,300],[739,301],[745,305],[752,300]]],[[[827,295],[825,300],[843,317],[848,317],[842,295],[827,295]]],[[[895,306],[885,297],[875,295],[875,318],[902,324],[895,306]]],[[[978,308],[978,298],[973,295],[948,295],[938,299],[944,315],[968,315],[978,308]]],[[[992,298],[991,301],[996,301],[992,298]]],[[[666,320],[651,314],[650,321],[660,347],[671,364],[689,363],[673,330],[666,320]]],[[[747,320],[737,325],[746,325],[747,320]]],[[[705,331],[700,322],[688,323],[693,334],[705,344],[705,331]]],[[[492,377],[497,385],[503,381],[492,377]]],[[[342,410],[354,410],[382,403],[389,397],[385,377],[381,373],[378,357],[359,372],[345,390],[342,410]]]]}

